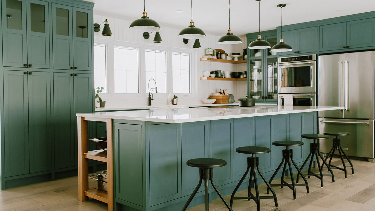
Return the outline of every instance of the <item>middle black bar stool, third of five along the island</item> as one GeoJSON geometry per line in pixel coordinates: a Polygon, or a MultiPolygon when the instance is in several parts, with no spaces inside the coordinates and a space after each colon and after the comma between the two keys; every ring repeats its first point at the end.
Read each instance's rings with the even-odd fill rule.
{"type": "MultiPolygon", "coordinates": [[[[269,181],[269,183],[271,184],[273,178],[275,178],[276,174],[278,173],[282,164],[285,161],[284,168],[282,170],[282,175],[281,175],[281,184],[271,184],[271,186],[272,187],[281,187],[281,188],[283,188],[284,186],[289,187],[291,190],[293,190],[293,199],[297,199],[296,186],[306,186],[307,193],[310,193],[309,185],[307,183],[307,180],[306,180],[305,176],[303,176],[301,170],[298,168],[297,164],[293,160],[293,150],[289,149],[290,146],[302,146],[303,142],[299,142],[299,141],[277,141],[277,142],[272,142],[272,145],[274,145],[274,146],[285,146],[286,149],[282,150],[283,154],[282,154],[281,163],[278,166],[278,168],[275,170],[275,173],[273,173],[273,175],[271,176],[271,179],[269,181]],[[290,164],[290,161],[292,161],[292,164],[293,164],[294,167],[296,167],[298,173],[302,175],[302,179],[305,181],[305,184],[295,184],[294,183],[293,171],[292,171],[292,166],[290,164]],[[285,172],[285,169],[287,168],[287,164],[288,164],[292,184],[288,184],[287,182],[284,181],[284,172],[285,172]]],[[[267,188],[267,194],[269,194],[269,193],[270,193],[270,189],[267,188]]]]}

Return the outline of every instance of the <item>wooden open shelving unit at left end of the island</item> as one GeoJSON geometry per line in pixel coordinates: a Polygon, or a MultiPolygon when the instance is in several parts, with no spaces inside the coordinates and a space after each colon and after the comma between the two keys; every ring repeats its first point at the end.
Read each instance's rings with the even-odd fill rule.
{"type": "Polygon", "coordinates": [[[108,211],[113,211],[113,135],[112,119],[77,117],[78,123],[78,200],[86,201],[89,197],[108,204],[108,211]],[[104,150],[88,151],[88,121],[107,122],[107,154],[104,150]],[[89,188],[89,159],[107,163],[107,193],[89,188]]]}

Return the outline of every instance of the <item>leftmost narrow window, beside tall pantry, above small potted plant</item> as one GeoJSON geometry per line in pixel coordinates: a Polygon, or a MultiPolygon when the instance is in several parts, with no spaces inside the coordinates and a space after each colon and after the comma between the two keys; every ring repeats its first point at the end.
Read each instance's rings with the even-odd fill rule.
{"type": "Polygon", "coordinates": [[[94,44],[94,86],[104,87],[102,93],[107,92],[107,65],[105,45],[94,44]]]}

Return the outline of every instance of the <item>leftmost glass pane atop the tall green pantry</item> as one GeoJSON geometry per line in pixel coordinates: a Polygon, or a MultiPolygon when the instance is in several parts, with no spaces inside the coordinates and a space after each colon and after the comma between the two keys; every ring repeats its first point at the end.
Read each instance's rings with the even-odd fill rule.
{"type": "Polygon", "coordinates": [[[22,2],[6,0],[6,27],[22,30],[22,2]]]}

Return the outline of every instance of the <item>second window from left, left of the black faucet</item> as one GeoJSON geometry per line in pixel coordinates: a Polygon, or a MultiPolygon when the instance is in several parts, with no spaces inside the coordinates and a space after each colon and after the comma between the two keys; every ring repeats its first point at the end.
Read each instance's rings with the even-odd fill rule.
{"type": "Polygon", "coordinates": [[[114,46],[114,92],[138,93],[138,48],[114,46]]]}

